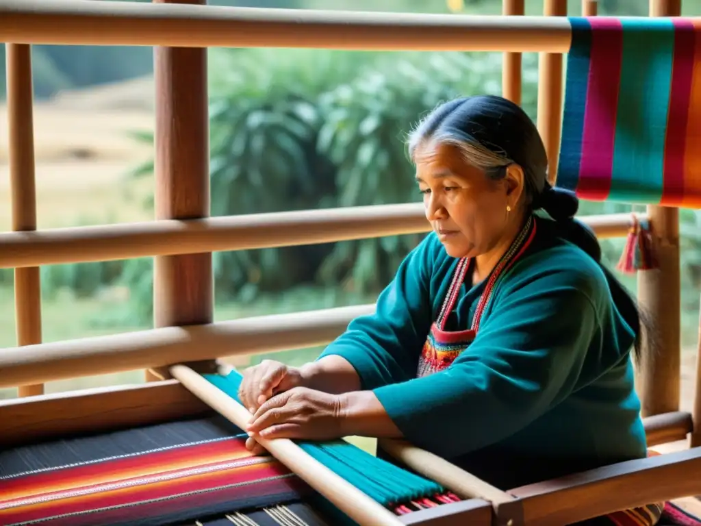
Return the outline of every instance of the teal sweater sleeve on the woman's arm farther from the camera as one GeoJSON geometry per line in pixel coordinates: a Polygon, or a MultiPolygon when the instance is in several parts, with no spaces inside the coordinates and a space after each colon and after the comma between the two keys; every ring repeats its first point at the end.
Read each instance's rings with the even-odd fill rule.
{"type": "Polygon", "coordinates": [[[430,235],[409,252],[379,295],[375,312],[353,320],[320,358],[337,355],[348,360],[363,390],[414,377],[432,323],[430,281],[440,247],[430,235]]]}

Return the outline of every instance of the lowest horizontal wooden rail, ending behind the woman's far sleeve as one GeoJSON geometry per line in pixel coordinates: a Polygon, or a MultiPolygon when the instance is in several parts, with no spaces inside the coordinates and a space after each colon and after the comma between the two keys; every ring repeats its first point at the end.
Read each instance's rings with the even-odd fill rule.
{"type": "Polygon", "coordinates": [[[374,304],[0,349],[0,388],[332,342],[374,304]]]}

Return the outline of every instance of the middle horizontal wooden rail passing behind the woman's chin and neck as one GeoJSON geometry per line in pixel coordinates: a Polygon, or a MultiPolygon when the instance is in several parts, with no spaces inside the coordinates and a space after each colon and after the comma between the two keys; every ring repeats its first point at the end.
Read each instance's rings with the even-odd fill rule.
{"type": "MultiPolygon", "coordinates": [[[[580,219],[599,238],[625,236],[631,222],[630,214],[580,219]]],[[[0,268],[313,245],[429,230],[423,204],[408,203],[4,232],[0,268]]]]}

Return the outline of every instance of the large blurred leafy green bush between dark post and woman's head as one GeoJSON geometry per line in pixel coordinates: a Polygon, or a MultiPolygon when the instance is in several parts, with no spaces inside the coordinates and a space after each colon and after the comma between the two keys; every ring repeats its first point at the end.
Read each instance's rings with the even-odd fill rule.
{"type": "MultiPolygon", "coordinates": [[[[444,100],[501,90],[498,54],[220,50],[212,62],[212,215],[416,201],[404,145],[411,123],[444,100]]],[[[532,113],[532,82],[525,93],[532,113]]],[[[420,238],[220,252],[217,296],[249,302],[304,284],[376,293],[420,238]]],[[[143,308],[152,270],[138,265],[141,274],[134,267],[123,279],[143,308]]]]}

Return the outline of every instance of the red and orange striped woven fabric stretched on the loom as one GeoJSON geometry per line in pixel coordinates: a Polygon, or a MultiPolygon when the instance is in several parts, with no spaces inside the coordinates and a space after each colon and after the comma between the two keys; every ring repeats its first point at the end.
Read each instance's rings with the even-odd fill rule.
{"type": "Polygon", "coordinates": [[[242,436],[202,440],[6,476],[0,524],[163,524],[193,511],[232,513],[311,494],[285,466],[252,456],[244,443],[242,436]]]}

